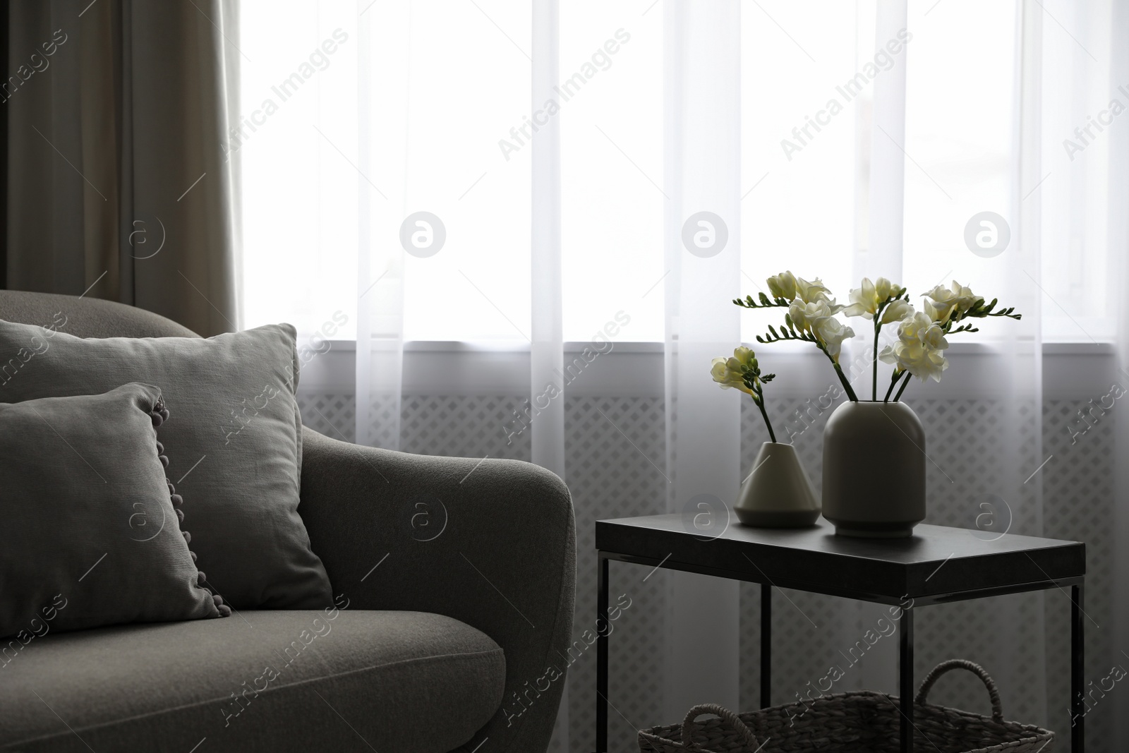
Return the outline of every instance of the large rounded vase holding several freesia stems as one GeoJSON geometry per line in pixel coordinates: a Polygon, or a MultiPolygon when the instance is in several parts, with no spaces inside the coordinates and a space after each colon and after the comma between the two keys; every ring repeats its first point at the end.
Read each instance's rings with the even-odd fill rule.
{"type": "Polygon", "coordinates": [[[841,536],[911,536],[925,519],[926,461],[909,405],[842,403],[823,429],[823,517],[841,536]]]}

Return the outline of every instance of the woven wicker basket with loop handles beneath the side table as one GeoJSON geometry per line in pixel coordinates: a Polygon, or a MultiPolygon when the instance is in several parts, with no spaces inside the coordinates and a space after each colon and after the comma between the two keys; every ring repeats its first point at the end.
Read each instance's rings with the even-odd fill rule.
{"type": "MultiPolygon", "coordinates": [[[[1054,733],[1005,721],[996,683],[983,667],[952,659],[937,665],[913,700],[914,753],[1051,753],[1054,733]],[[926,703],[926,694],[949,669],[974,672],[991,697],[991,718],[926,703]]],[[[682,725],[639,733],[641,753],[898,753],[901,710],[898,698],[858,691],[811,702],[773,706],[735,715],[720,706],[695,706],[682,725]],[[701,715],[717,719],[697,721],[701,715]],[[761,742],[758,742],[761,741],[761,742]]]]}

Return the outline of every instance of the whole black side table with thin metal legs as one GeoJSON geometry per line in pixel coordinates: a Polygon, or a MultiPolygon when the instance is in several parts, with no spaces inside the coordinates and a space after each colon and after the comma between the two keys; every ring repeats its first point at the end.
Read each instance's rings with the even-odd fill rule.
{"type": "MultiPolygon", "coordinates": [[[[771,706],[772,588],[794,588],[904,606],[899,689],[901,750],[913,750],[913,611],[986,596],[1070,587],[1070,750],[1083,753],[1082,701],[1086,545],[1032,536],[987,535],[919,525],[910,539],[835,536],[826,520],[811,528],[732,525],[718,537],[688,531],[680,515],[596,522],[597,618],[607,619],[609,560],[761,584],[761,706],[771,706]],[[979,537],[982,535],[984,537],[979,537]],[[912,599],[909,602],[908,599],[912,599]],[[907,606],[907,604],[911,604],[907,606]]],[[[607,751],[607,634],[596,656],[596,751],[607,751]]]]}

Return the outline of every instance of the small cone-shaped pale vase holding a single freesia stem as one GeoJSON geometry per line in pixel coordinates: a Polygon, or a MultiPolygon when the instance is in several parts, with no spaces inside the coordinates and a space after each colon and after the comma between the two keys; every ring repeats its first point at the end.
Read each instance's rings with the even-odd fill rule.
{"type": "Polygon", "coordinates": [[[733,511],[746,526],[799,528],[815,524],[820,500],[791,445],[761,445],[733,511]]]}

